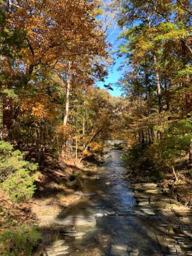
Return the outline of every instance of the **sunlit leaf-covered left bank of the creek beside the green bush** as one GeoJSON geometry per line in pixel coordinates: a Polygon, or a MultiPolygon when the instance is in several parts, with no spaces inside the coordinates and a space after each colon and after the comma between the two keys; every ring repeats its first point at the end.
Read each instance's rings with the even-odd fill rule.
{"type": "Polygon", "coordinates": [[[38,227],[42,239],[47,242],[57,231],[49,232],[49,223],[81,195],[76,193],[81,180],[94,171],[96,164],[84,161],[59,161],[48,156],[36,172],[35,194],[24,203],[13,203],[10,197],[0,190],[0,230],[31,224],[38,227]]]}

